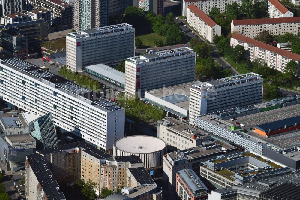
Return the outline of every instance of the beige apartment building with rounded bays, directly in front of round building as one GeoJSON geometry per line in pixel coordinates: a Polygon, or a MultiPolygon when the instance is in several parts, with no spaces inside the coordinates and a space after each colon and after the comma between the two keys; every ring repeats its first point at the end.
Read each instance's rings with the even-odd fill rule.
{"type": "Polygon", "coordinates": [[[143,167],[139,156],[116,156],[101,161],[101,187],[116,192],[127,186],[127,168],[143,167]]]}

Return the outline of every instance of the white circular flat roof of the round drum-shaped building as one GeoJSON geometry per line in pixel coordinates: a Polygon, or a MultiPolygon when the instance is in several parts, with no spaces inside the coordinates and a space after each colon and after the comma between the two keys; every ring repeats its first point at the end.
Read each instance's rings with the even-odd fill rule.
{"type": "Polygon", "coordinates": [[[130,153],[153,153],[163,150],[167,143],[163,140],[151,136],[130,136],[116,141],[115,146],[130,153]]]}

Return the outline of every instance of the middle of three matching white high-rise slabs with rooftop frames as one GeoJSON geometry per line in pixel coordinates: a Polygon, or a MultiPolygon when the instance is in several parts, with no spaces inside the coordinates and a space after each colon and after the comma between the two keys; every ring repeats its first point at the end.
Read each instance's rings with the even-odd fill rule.
{"type": "Polygon", "coordinates": [[[146,90],[195,80],[196,53],[188,47],[130,57],[125,62],[125,94],[140,97],[146,90]]]}

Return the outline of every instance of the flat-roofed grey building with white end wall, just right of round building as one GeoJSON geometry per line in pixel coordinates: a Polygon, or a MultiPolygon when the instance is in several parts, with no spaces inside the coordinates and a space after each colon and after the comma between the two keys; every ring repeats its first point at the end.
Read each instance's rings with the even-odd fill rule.
{"type": "Polygon", "coordinates": [[[197,147],[167,153],[163,156],[163,180],[169,193],[172,197],[176,194],[176,174],[180,170],[192,169],[196,174],[200,174],[201,162],[240,152],[241,150],[230,144],[210,140],[197,147]]]}

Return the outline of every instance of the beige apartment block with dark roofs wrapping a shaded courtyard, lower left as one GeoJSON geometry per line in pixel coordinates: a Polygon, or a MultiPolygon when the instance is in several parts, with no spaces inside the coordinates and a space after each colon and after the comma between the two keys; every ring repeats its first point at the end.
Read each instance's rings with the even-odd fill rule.
{"type": "MultiPolygon", "coordinates": [[[[37,151],[44,156],[47,167],[58,183],[77,179],[89,180],[98,183],[100,187],[100,161],[112,156],[84,142],[74,142],[58,147],[37,151]]],[[[99,188],[95,188],[99,192],[99,188]]]]}

